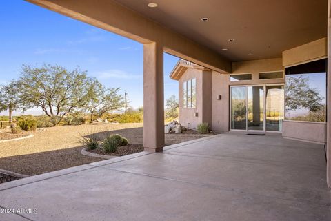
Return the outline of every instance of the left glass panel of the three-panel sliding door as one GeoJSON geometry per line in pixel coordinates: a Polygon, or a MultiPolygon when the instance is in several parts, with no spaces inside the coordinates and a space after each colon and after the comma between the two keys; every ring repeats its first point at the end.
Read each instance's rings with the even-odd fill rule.
{"type": "Polygon", "coordinates": [[[246,130],[246,87],[231,88],[231,129],[246,130]]]}

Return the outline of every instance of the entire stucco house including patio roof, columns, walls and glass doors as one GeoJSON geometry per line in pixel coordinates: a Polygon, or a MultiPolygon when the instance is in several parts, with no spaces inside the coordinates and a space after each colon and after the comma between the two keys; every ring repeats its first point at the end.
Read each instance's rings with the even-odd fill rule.
{"type": "Polygon", "coordinates": [[[165,146],[166,52],[204,67],[179,64],[173,72],[181,94],[186,86],[184,125],[208,122],[215,131],[273,131],[326,144],[331,187],[330,0],[27,1],[143,44],[146,151],[165,146]]]}

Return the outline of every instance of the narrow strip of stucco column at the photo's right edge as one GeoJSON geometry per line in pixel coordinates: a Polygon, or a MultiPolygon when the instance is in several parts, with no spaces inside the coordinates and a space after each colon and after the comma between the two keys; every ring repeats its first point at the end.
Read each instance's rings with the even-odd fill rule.
{"type": "Polygon", "coordinates": [[[328,159],[326,165],[326,180],[328,187],[331,188],[331,1],[328,1],[328,88],[327,88],[327,105],[328,105],[328,123],[327,123],[327,141],[326,156],[328,159]]]}

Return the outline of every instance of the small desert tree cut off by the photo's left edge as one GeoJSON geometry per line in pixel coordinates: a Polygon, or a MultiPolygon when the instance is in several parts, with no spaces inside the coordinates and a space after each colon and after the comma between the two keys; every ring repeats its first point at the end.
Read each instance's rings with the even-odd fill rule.
{"type": "Polygon", "coordinates": [[[21,108],[21,86],[19,81],[12,80],[0,86],[0,111],[9,113],[9,122],[12,122],[12,113],[21,108]]]}

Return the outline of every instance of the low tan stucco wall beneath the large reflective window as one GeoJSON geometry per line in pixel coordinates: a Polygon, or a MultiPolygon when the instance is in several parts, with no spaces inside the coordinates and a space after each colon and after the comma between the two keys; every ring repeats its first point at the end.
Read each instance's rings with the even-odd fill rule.
{"type": "Polygon", "coordinates": [[[326,142],[326,123],[283,121],[283,137],[308,142],[326,142]]]}

